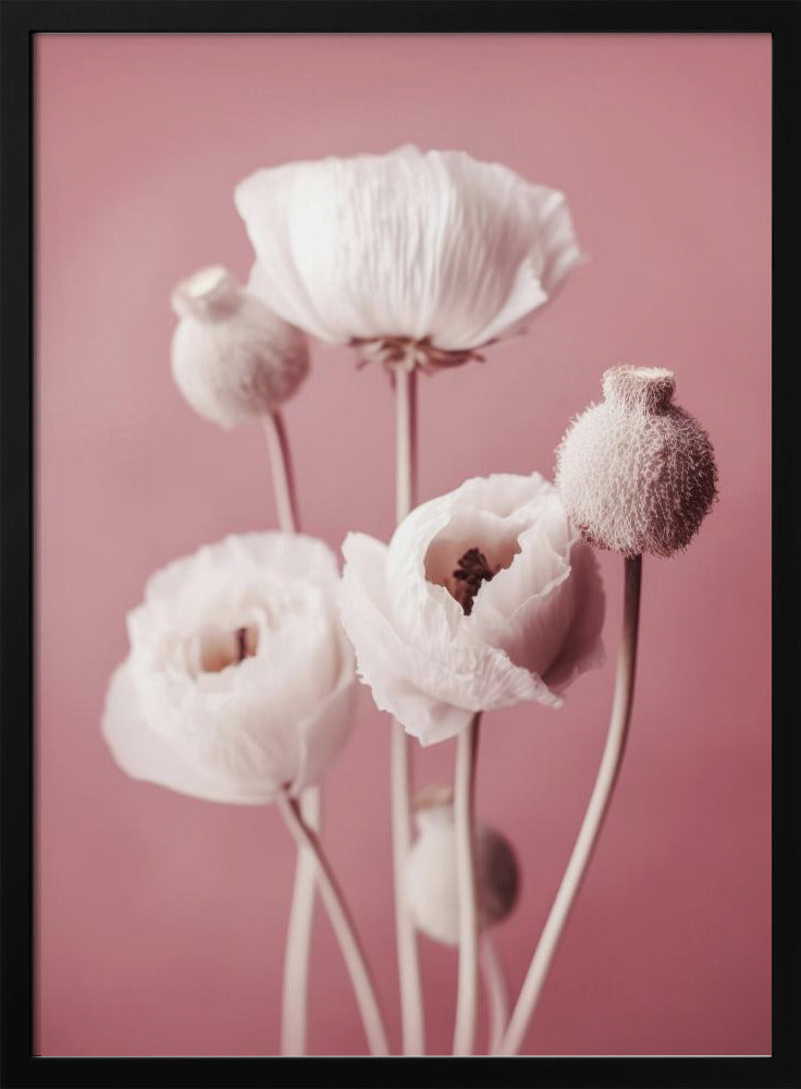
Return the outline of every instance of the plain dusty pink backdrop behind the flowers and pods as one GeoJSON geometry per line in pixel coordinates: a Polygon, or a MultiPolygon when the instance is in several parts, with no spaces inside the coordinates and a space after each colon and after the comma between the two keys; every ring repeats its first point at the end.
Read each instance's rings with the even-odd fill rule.
{"type": "MultiPolygon", "coordinates": [[[[232,203],[259,166],[465,148],[563,188],[591,264],[528,337],[423,380],[421,498],[551,475],[619,363],[676,370],[716,445],[691,549],[646,561],[630,748],[527,1038],[534,1054],[753,1054],[769,1030],[771,41],[762,36],[39,36],[38,1036],[47,1055],[272,1054],[294,851],[272,809],[127,779],[100,737],[124,614],[158,566],[274,525],[258,428],[196,417],[168,368],[172,285],[250,250],[232,203]]],[[[315,346],[289,405],[306,528],[338,547],[393,516],[378,368],[315,346]]],[[[609,661],[562,711],[489,717],[479,810],[516,843],[496,940],[517,991],[595,774],[609,661]]],[[[328,781],[326,840],[398,1038],[387,720],[363,693],[328,781]]],[[[428,749],[419,782],[451,773],[428,749]]],[[[422,940],[434,1053],[453,951],[422,940]]],[[[326,920],[312,1048],[363,1036],[326,920]]]]}

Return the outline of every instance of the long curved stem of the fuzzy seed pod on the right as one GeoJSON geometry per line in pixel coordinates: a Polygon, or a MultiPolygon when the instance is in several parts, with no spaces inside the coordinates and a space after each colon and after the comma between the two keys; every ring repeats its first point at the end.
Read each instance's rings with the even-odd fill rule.
{"type": "Polygon", "coordinates": [[[595,785],[590,797],[590,804],[584,813],[581,831],[570,855],[570,861],[562,879],[551,914],[543,928],[540,941],[531,959],[528,974],[520,989],[520,995],[509,1020],[498,1051],[501,1055],[517,1054],[529,1021],[537,1007],[540,992],[545,982],[551,960],[556,952],[562,931],[567,921],[570,908],[581,885],[592,852],[601,832],[606,810],[612,798],[617,773],[623,762],[626,748],[626,736],[631,718],[631,705],[634,694],[634,674],[637,669],[637,634],[640,616],[640,586],[642,579],[642,556],[627,559],[625,563],[625,591],[623,635],[617,656],[617,675],[615,678],[615,697],[609,718],[609,730],[606,735],[601,767],[595,785]]]}

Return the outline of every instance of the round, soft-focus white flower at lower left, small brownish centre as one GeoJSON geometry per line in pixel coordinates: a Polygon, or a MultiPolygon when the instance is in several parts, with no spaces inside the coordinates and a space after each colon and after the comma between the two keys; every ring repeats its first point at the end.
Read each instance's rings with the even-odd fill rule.
{"type": "Polygon", "coordinates": [[[230,536],[157,572],[107,697],[122,769],[243,804],[317,781],[353,719],[337,583],[328,546],[280,533],[230,536]]]}

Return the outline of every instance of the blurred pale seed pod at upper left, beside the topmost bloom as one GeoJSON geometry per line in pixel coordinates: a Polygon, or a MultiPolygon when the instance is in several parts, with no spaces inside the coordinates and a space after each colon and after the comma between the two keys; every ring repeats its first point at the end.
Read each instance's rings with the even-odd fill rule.
{"type": "Polygon", "coordinates": [[[175,287],[172,374],[195,412],[233,427],[278,408],[309,371],[306,337],[214,265],[175,287]]]}

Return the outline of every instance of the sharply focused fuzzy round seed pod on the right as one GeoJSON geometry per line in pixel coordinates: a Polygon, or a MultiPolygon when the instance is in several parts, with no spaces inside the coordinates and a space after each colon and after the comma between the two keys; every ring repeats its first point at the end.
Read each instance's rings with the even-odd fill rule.
{"type": "Polygon", "coordinates": [[[616,367],[604,401],[574,420],[556,451],[556,485],[574,524],[626,556],[687,548],[717,493],[708,436],[673,403],[657,367],[616,367]]]}

